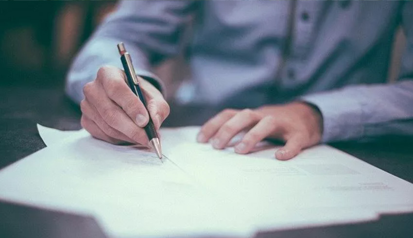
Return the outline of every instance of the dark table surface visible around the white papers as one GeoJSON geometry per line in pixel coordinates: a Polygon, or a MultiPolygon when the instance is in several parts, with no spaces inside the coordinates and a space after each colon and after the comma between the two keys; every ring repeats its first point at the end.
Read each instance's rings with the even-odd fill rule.
{"type": "MultiPolygon", "coordinates": [[[[0,88],[0,169],[43,149],[36,124],[78,130],[80,110],[61,86],[0,88]]],[[[213,109],[171,104],[166,126],[200,125],[213,109]],[[185,121],[180,115],[185,112],[185,121]],[[192,115],[192,117],[187,117],[192,115]]],[[[367,163],[413,183],[413,137],[387,136],[375,141],[331,144],[367,163]]],[[[93,217],[0,202],[0,237],[105,237],[93,217]]],[[[413,213],[385,215],[379,221],[258,233],[256,237],[406,237],[413,234],[413,213]]]]}

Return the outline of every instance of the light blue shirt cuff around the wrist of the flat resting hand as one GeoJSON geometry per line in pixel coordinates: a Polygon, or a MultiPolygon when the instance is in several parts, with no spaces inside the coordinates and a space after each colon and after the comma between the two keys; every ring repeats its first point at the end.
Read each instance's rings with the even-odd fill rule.
{"type": "Polygon", "coordinates": [[[340,91],[317,93],[300,98],[318,107],[323,117],[321,142],[352,140],[363,136],[363,110],[356,97],[340,91]]]}

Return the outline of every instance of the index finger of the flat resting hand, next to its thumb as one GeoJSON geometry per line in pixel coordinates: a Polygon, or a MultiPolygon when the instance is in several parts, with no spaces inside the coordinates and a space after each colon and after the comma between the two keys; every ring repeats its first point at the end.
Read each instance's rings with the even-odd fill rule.
{"type": "Polygon", "coordinates": [[[241,142],[235,146],[235,152],[241,154],[249,153],[258,142],[274,133],[276,125],[273,117],[264,117],[244,135],[241,142]]]}

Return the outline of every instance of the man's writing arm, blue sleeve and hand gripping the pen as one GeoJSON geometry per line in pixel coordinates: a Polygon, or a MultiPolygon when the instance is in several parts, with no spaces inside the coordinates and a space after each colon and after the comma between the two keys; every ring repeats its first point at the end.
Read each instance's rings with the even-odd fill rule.
{"type": "Polygon", "coordinates": [[[143,127],[149,115],[158,130],[170,111],[150,68],[179,51],[192,6],[190,1],[123,1],[91,37],[69,71],[66,91],[80,103],[81,124],[92,136],[114,144],[148,145],[143,127]],[[125,83],[119,42],[144,78],[139,84],[148,111],[125,83]]]}

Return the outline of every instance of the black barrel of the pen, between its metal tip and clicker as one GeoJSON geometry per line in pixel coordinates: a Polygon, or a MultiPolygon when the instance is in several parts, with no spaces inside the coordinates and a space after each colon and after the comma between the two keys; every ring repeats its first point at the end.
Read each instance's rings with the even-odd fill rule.
{"type": "MultiPolygon", "coordinates": [[[[125,56],[122,55],[120,59],[122,61],[123,68],[125,69],[126,79],[128,81],[127,83],[129,85],[129,88],[132,90],[132,92],[136,96],[138,96],[139,100],[145,106],[146,111],[148,111],[148,106],[146,104],[145,97],[143,97],[142,90],[140,89],[139,85],[135,85],[132,80],[131,70],[128,70],[129,66],[126,62],[125,56]]],[[[156,133],[155,125],[154,125],[154,122],[152,121],[149,111],[148,111],[148,115],[149,115],[148,124],[146,124],[146,126],[143,129],[145,129],[146,135],[148,136],[149,141],[151,141],[153,138],[159,138],[159,137],[158,137],[158,134],[156,133]]]]}

